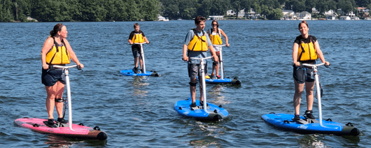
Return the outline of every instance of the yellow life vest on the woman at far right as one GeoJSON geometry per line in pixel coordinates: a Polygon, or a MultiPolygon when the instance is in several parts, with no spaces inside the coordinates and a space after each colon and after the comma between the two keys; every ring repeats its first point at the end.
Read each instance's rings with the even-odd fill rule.
{"type": "Polygon", "coordinates": [[[297,51],[297,61],[316,60],[318,58],[316,48],[314,47],[314,40],[309,37],[310,42],[304,43],[300,41],[299,50],[297,51]]]}

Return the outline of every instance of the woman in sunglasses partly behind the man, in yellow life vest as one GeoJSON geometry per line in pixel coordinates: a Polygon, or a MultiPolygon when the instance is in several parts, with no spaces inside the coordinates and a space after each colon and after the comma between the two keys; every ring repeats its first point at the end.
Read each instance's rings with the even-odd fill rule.
{"type": "MultiPolygon", "coordinates": [[[[225,45],[227,47],[230,47],[230,44],[228,43],[228,36],[225,35],[224,31],[219,28],[218,21],[213,20],[213,22],[211,22],[211,27],[212,28],[210,30],[207,30],[207,35],[209,35],[211,43],[213,45],[222,45],[223,41],[221,39],[221,35],[223,35],[225,38],[225,45]]],[[[220,52],[221,47],[216,47],[216,46],[213,46],[213,47],[215,49],[216,55],[218,56],[219,59],[221,59],[221,52],[220,52]]],[[[216,77],[221,78],[221,76],[219,75],[219,62],[216,62],[216,61],[213,62],[213,72],[211,73],[211,78],[215,78],[214,71],[216,71],[216,77]]]]}

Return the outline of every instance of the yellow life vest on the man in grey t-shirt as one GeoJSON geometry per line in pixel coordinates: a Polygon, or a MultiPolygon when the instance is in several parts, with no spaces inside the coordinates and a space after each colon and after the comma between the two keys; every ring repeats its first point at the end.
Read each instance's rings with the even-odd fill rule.
{"type": "Polygon", "coordinates": [[[205,32],[202,31],[202,36],[198,36],[196,29],[193,29],[193,32],[195,33],[195,36],[193,36],[193,39],[190,40],[190,43],[188,44],[188,50],[195,51],[195,52],[206,52],[208,50],[207,47],[207,36],[205,36],[205,32]]]}

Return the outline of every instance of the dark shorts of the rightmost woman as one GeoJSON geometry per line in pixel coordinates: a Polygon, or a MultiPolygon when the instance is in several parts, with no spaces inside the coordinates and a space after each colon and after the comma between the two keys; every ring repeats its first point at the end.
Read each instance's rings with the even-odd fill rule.
{"type": "Polygon", "coordinates": [[[304,82],[314,82],[314,70],[307,67],[300,68],[293,66],[293,77],[299,84],[303,84],[304,82]]]}

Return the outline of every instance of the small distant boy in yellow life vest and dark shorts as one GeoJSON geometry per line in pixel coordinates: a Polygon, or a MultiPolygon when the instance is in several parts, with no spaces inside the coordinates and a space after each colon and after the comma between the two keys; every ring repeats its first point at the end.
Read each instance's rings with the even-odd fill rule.
{"type": "Polygon", "coordinates": [[[132,53],[134,57],[134,68],[133,72],[134,73],[139,73],[138,72],[138,60],[139,64],[141,65],[141,73],[144,73],[143,69],[143,59],[141,57],[141,46],[138,44],[134,43],[144,43],[146,42],[149,44],[149,41],[147,40],[146,36],[144,35],[143,31],[140,30],[139,24],[135,23],[134,24],[134,31],[132,31],[129,35],[129,43],[132,45],[132,53]]]}

